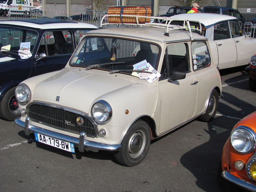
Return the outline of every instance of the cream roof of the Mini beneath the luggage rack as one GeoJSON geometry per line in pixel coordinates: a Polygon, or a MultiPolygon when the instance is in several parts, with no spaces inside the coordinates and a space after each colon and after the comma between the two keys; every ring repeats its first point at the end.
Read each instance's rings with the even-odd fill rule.
{"type": "MultiPolygon", "coordinates": [[[[119,37],[140,38],[144,40],[172,42],[190,40],[190,33],[182,30],[171,30],[169,36],[164,35],[166,29],[155,27],[119,27],[119,28],[102,28],[87,32],[87,35],[109,35],[119,37]]],[[[206,39],[204,36],[197,33],[192,33],[193,39],[206,39]]]]}

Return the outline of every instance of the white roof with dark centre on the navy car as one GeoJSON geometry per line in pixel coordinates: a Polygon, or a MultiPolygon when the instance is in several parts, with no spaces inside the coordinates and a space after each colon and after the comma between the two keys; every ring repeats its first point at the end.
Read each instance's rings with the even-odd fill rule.
{"type": "Polygon", "coordinates": [[[0,21],[1,24],[27,26],[31,28],[39,29],[59,29],[59,28],[97,28],[94,25],[88,23],[78,23],[67,20],[57,20],[52,18],[40,18],[40,19],[20,19],[20,20],[5,20],[0,21]]]}

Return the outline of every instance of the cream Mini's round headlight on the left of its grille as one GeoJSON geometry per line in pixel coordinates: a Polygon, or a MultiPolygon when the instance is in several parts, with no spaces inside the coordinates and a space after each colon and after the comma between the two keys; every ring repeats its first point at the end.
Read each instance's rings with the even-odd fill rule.
{"type": "Polygon", "coordinates": [[[27,104],[30,101],[31,92],[24,83],[19,84],[15,89],[15,97],[20,104],[27,104]]]}

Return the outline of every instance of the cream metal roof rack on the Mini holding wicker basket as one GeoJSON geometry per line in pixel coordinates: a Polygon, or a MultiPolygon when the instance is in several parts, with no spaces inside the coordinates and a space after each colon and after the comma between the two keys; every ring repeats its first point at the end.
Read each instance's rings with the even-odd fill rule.
{"type": "Polygon", "coordinates": [[[195,20],[182,20],[182,19],[172,19],[170,17],[148,17],[148,16],[139,16],[139,15],[104,15],[100,21],[100,28],[103,28],[104,25],[132,25],[132,26],[150,26],[156,28],[164,28],[165,36],[169,36],[169,31],[177,30],[177,29],[185,29],[190,32],[190,38],[192,37],[192,30],[197,30],[202,32],[202,26],[199,21],[195,20]],[[161,20],[162,22],[156,23],[156,20],[161,20]],[[183,21],[182,25],[175,25],[173,21],[183,21]],[[199,24],[200,28],[196,28],[195,26],[190,26],[189,21],[193,21],[199,24]],[[171,24],[172,23],[172,24],[171,24]]]}

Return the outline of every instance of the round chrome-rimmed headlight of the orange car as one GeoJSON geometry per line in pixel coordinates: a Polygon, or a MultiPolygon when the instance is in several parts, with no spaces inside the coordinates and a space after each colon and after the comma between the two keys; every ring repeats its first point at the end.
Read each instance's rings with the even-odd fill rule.
{"type": "Polygon", "coordinates": [[[239,153],[250,153],[255,148],[255,133],[249,127],[239,126],[231,132],[230,142],[239,153]]]}

